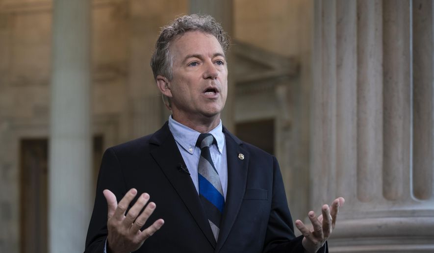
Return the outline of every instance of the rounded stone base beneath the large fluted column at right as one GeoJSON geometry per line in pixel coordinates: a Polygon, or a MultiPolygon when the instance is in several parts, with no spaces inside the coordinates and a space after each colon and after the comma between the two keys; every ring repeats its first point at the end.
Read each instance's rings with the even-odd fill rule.
{"type": "Polygon", "coordinates": [[[434,217],[338,221],[329,247],[333,253],[433,253],[434,217]]]}

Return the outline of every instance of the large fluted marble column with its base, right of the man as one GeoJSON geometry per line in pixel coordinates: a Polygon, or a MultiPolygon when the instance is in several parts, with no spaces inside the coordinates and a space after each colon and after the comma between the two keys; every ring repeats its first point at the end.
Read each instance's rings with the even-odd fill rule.
{"type": "Polygon", "coordinates": [[[433,3],[316,0],[310,205],[331,252],[434,251],[433,3]]]}

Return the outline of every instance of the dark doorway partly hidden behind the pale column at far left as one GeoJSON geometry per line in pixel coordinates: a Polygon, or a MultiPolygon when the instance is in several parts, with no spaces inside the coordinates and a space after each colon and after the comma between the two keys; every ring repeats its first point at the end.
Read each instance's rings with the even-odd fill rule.
{"type": "MultiPolygon", "coordinates": [[[[96,186],[102,149],[103,137],[97,135],[93,138],[93,189],[96,186]]],[[[48,252],[48,160],[47,138],[20,141],[21,253],[48,252]]]]}

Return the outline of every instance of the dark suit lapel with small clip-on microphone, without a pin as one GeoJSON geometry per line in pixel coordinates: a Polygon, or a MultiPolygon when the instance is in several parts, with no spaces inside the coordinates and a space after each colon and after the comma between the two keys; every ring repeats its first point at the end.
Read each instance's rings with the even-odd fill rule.
{"type": "Polygon", "coordinates": [[[199,228],[201,228],[209,243],[215,248],[214,235],[212,234],[191,177],[188,174],[179,172],[179,163],[184,166],[185,164],[167,123],[155,132],[150,143],[155,145],[155,148],[151,151],[151,155],[177,191],[180,199],[184,202],[192,218],[196,221],[199,228]]]}

